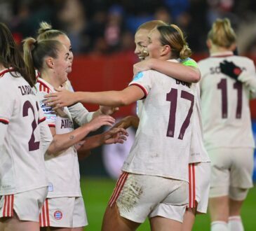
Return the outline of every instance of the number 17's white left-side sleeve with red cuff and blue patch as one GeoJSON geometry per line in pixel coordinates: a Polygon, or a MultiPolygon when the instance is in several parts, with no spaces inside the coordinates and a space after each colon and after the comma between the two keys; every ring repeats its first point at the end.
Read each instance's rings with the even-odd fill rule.
{"type": "Polygon", "coordinates": [[[152,78],[151,78],[152,71],[142,71],[136,74],[133,78],[133,81],[129,83],[129,86],[136,85],[140,87],[140,89],[144,92],[144,98],[147,97],[149,91],[152,87],[152,78]]]}

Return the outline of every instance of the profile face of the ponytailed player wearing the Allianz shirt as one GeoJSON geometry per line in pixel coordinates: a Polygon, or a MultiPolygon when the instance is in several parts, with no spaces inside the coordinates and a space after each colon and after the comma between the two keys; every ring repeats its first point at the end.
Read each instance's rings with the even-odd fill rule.
{"type": "Polygon", "coordinates": [[[71,69],[69,50],[67,50],[65,45],[60,45],[58,57],[53,59],[54,78],[58,81],[59,85],[62,85],[67,81],[67,73],[69,73],[69,69],[71,69]]]}

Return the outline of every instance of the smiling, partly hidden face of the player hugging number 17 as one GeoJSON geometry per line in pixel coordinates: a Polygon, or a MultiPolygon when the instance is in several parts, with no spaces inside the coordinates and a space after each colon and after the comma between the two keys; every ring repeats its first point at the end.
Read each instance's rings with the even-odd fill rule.
{"type": "Polygon", "coordinates": [[[148,39],[147,39],[147,35],[149,34],[148,29],[139,29],[136,34],[135,34],[135,55],[137,55],[137,57],[140,60],[144,60],[145,57],[147,57],[148,52],[147,52],[147,43],[148,43],[148,39]]]}

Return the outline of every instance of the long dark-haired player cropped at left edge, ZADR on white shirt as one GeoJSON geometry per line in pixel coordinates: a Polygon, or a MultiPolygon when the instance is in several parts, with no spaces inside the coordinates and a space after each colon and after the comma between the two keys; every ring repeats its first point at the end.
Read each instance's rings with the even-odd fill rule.
{"type": "Polygon", "coordinates": [[[0,230],[39,231],[52,136],[11,31],[0,23],[0,230]]]}

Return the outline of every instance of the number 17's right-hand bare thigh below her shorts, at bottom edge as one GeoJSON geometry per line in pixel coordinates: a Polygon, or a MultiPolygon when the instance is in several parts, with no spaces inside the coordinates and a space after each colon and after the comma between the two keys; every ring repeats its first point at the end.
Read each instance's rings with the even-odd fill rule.
{"type": "Polygon", "coordinates": [[[151,231],[180,231],[182,230],[182,223],[180,221],[155,216],[149,219],[151,231]]]}

